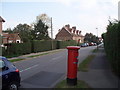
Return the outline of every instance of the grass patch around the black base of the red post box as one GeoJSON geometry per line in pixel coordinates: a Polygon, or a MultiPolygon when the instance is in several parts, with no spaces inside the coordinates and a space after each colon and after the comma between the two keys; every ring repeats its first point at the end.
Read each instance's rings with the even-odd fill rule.
{"type": "Polygon", "coordinates": [[[82,80],[78,80],[77,81],[77,85],[75,85],[75,86],[69,86],[69,85],[67,85],[67,82],[66,82],[66,80],[63,80],[63,81],[61,81],[60,83],[58,83],[56,86],[55,86],[55,88],[57,89],[57,88],[91,88],[87,83],[85,83],[84,81],[82,81],[82,80]]]}

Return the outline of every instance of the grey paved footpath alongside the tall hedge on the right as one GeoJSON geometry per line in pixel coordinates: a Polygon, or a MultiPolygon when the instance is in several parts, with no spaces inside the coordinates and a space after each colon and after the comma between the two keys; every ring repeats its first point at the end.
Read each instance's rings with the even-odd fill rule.
{"type": "Polygon", "coordinates": [[[78,72],[78,79],[85,81],[92,88],[119,88],[120,90],[120,79],[112,73],[104,49],[100,48],[95,55],[89,65],[89,71],[78,72]]]}

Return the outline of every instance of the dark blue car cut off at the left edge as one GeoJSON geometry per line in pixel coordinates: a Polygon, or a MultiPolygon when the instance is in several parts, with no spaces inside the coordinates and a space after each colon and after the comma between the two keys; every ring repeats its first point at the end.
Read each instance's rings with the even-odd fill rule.
{"type": "Polygon", "coordinates": [[[19,70],[5,57],[0,56],[0,85],[2,90],[17,90],[20,86],[19,70]]]}

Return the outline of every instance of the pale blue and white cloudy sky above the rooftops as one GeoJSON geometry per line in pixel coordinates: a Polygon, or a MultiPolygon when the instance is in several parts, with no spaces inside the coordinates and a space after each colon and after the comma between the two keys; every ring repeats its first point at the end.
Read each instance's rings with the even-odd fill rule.
{"type": "MultiPolygon", "coordinates": [[[[108,19],[118,19],[119,0],[2,0],[0,15],[5,19],[3,30],[19,23],[31,24],[36,16],[46,13],[53,18],[54,37],[65,24],[76,26],[82,34],[101,36],[108,19]]],[[[50,33],[50,31],[49,31],[50,33]]]]}

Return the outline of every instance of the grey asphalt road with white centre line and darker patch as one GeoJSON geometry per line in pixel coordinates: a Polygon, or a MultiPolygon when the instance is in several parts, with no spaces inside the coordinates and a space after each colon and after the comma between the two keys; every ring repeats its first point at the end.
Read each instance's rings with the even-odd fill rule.
{"type": "MultiPolygon", "coordinates": [[[[95,46],[81,48],[78,57],[79,63],[95,48],[95,46]]],[[[21,88],[52,88],[60,80],[66,78],[67,50],[14,64],[20,70],[21,88]]]]}

